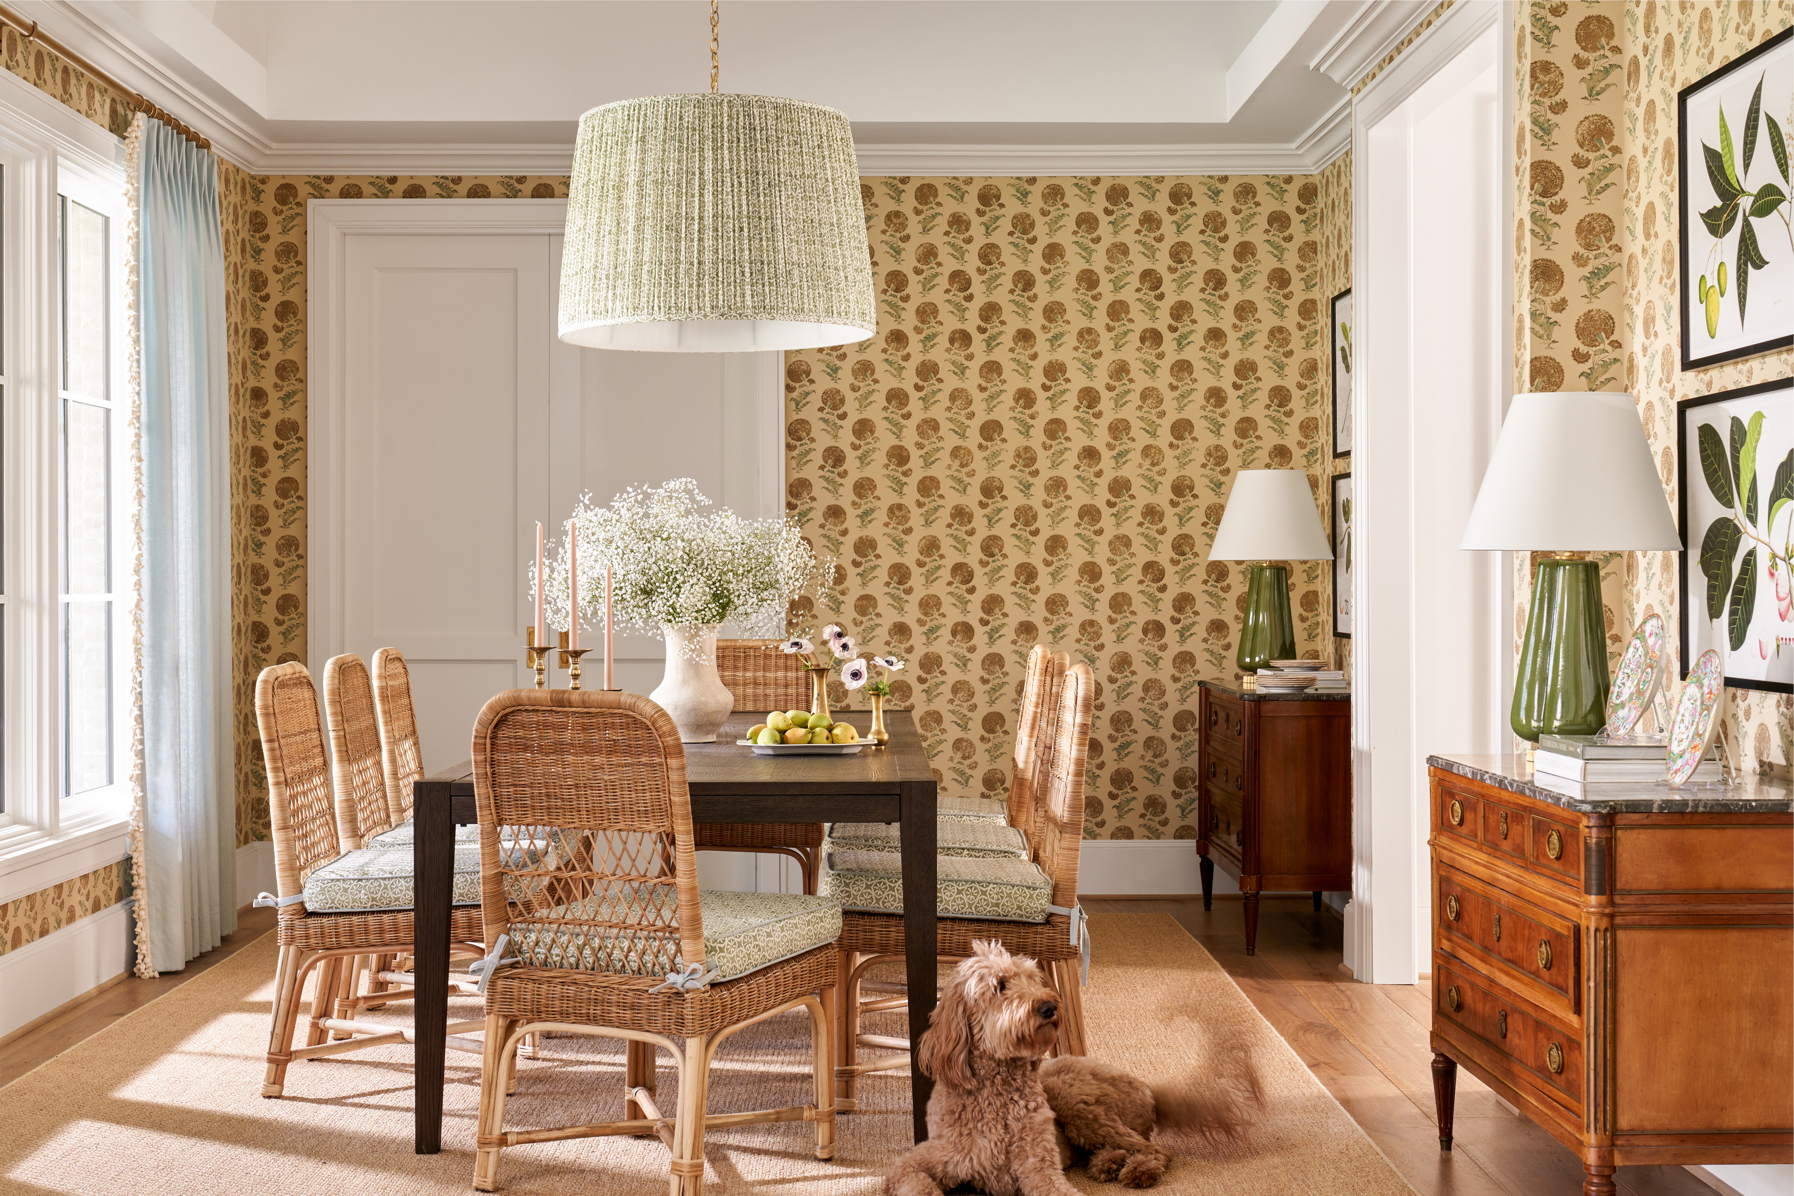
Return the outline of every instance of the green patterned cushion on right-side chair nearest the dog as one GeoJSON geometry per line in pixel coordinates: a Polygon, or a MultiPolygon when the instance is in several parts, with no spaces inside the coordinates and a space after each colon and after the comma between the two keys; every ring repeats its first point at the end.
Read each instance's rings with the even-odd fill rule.
{"type": "MultiPolygon", "coordinates": [[[[942,918],[1046,922],[1053,882],[1037,864],[1014,857],[942,855],[936,864],[942,918]]],[[[841,909],[902,913],[902,857],[895,852],[825,852],[818,891],[841,909]]]]}

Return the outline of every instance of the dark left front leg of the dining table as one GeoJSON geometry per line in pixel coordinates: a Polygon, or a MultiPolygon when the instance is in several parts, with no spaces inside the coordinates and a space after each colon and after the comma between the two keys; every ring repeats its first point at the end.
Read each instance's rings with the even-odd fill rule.
{"type": "Polygon", "coordinates": [[[414,819],[413,932],[416,999],[413,1018],[413,1144],[418,1155],[443,1148],[443,1054],[448,1049],[448,902],[454,882],[454,810],[447,782],[411,787],[414,819]]]}

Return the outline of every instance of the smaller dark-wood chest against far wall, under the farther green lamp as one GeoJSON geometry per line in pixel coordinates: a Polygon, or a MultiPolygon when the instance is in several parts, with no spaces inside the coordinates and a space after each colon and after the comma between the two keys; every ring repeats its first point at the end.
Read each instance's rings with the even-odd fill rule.
{"type": "Polygon", "coordinates": [[[1240,882],[1245,954],[1258,895],[1351,888],[1351,694],[1276,694],[1202,683],[1197,852],[1202,907],[1215,864],[1240,882]]]}

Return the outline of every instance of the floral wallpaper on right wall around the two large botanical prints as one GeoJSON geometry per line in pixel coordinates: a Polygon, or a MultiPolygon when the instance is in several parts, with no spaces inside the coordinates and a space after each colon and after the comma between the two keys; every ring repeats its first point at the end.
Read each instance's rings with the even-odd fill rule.
{"type": "MultiPolygon", "coordinates": [[[[1790,20],[1785,0],[1516,5],[1516,382],[1633,393],[1672,504],[1676,402],[1794,373],[1789,351],[1679,369],[1676,93],[1790,20]]],[[[1647,613],[1677,626],[1677,554],[1598,559],[1609,653],[1647,613]]],[[[1516,563],[1516,651],[1530,572],[1516,563]]],[[[1787,769],[1790,721],[1787,696],[1728,690],[1747,767],[1787,769]]]]}

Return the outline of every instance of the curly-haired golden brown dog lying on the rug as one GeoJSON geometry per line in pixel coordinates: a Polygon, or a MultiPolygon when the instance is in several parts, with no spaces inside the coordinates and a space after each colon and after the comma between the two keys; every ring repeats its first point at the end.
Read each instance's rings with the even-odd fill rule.
{"type": "Polygon", "coordinates": [[[1093,1178],[1152,1187],[1170,1153],[1154,1126],[1211,1139],[1241,1131],[1259,1103],[1250,1058],[1224,1060],[1229,1079],[1200,1092],[1152,1088],[1087,1058],[1042,1058],[1058,1036],[1058,995],[1033,959],[974,943],[922,1035],[935,1078],[927,1142],[884,1178],[888,1196],[940,1196],[972,1185],[988,1196],[1073,1196],[1064,1169],[1087,1157],[1093,1178]]]}

